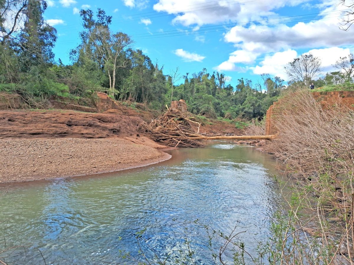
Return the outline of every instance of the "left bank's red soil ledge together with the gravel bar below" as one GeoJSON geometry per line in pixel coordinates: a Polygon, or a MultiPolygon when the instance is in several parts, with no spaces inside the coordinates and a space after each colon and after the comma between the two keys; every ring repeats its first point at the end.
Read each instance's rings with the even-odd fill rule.
{"type": "Polygon", "coordinates": [[[140,136],[137,115],[1,111],[0,183],[87,175],[170,156],[140,136]]]}

